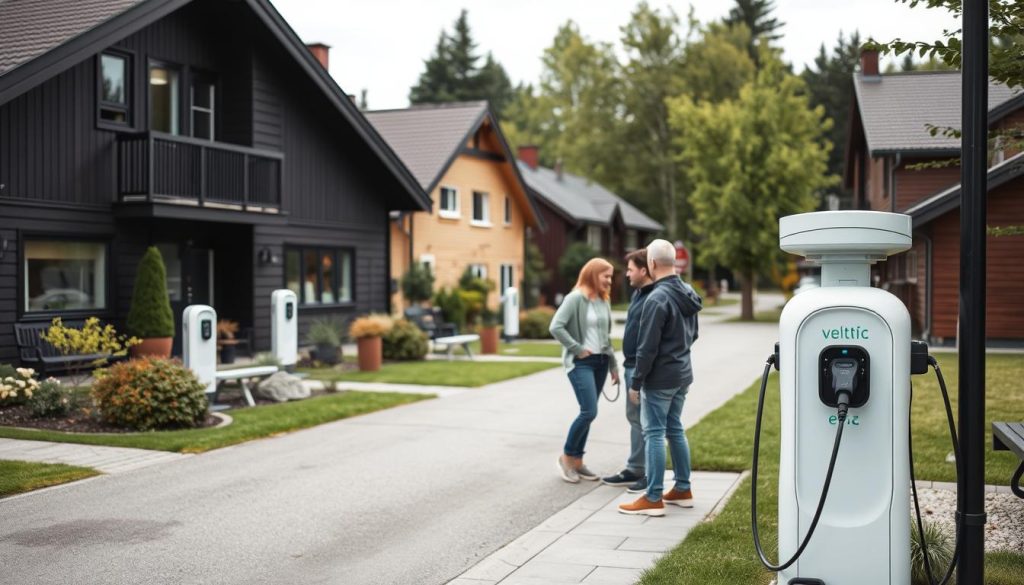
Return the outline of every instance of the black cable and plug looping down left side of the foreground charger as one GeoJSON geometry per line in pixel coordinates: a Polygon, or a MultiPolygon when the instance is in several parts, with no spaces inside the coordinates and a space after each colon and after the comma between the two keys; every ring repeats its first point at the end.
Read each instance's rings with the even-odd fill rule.
{"type": "Polygon", "coordinates": [[[855,360],[835,360],[833,362],[833,388],[836,390],[838,403],[836,442],[833,444],[831,458],[828,460],[828,471],[825,473],[825,483],[821,488],[821,498],[818,500],[818,508],[814,511],[814,518],[811,519],[811,527],[807,530],[807,536],[800,543],[797,552],[793,557],[780,565],[773,565],[764,549],[761,547],[761,536],[758,533],[758,452],[761,448],[761,415],[764,412],[765,388],[768,386],[768,373],[771,367],[776,364],[775,354],[768,357],[765,363],[765,371],[761,376],[761,391],[758,394],[758,416],[754,427],[754,462],[751,469],[751,531],[754,533],[754,547],[757,548],[761,563],[769,571],[779,572],[788,569],[804,553],[804,549],[811,542],[814,529],[821,518],[821,511],[825,507],[825,499],[828,497],[828,486],[831,485],[833,471],[836,469],[836,457],[839,455],[839,446],[843,442],[843,428],[846,427],[846,416],[850,409],[850,398],[856,388],[857,364],[855,360]]]}

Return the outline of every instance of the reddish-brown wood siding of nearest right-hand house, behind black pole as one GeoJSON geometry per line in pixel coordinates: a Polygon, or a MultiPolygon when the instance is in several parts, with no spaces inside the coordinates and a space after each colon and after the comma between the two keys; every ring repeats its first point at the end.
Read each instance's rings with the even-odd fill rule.
{"type": "MultiPolygon", "coordinates": [[[[1024,179],[1018,178],[988,196],[988,224],[1024,224],[1024,179]]],[[[932,335],[946,340],[956,336],[959,310],[959,211],[931,223],[933,241],[932,335]]],[[[1024,339],[1024,310],[1020,285],[1024,283],[1024,238],[989,237],[985,327],[989,339],[1024,339]]]]}

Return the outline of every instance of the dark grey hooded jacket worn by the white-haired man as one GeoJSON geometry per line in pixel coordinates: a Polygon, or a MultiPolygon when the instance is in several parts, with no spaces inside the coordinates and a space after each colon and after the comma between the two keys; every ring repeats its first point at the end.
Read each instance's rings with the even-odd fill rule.
{"type": "Polygon", "coordinates": [[[693,287],[675,276],[654,283],[640,315],[633,389],[682,388],[693,382],[690,347],[702,306],[693,287]]]}

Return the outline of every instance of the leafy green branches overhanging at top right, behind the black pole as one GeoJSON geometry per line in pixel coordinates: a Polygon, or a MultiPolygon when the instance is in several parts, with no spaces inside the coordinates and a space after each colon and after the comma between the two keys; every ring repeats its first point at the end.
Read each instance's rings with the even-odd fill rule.
{"type": "MultiPolygon", "coordinates": [[[[928,8],[944,8],[959,17],[963,0],[895,0],[911,8],[924,4],[928,8]]],[[[988,75],[995,81],[1020,87],[1024,85],[1024,2],[1019,0],[988,1],[988,75]]],[[[869,40],[866,48],[897,56],[916,51],[918,56],[938,57],[952,69],[961,66],[961,29],[943,31],[934,41],[905,41],[900,38],[888,43],[869,40]]]]}

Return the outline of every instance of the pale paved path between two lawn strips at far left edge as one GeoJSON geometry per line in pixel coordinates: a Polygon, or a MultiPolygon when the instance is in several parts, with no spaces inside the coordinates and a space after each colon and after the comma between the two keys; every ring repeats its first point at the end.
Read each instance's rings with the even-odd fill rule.
{"type": "Polygon", "coordinates": [[[150,465],[176,461],[186,457],[193,457],[193,455],[126,447],[97,447],[71,443],[0,438],[0,459],[66,463],[92,467],[111,474],[141,469],[150,465]]]}

